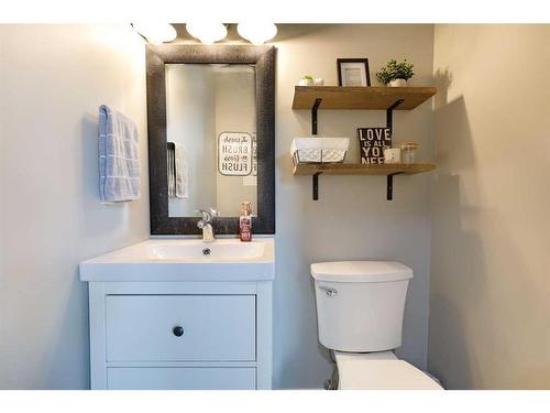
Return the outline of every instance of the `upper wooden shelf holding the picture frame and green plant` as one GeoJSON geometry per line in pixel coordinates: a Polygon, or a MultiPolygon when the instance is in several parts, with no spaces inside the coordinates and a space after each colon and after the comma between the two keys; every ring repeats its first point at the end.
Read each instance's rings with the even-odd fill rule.
{"type": "Polygon", "coordinates": [[[295,86],[293,109],[311,109],[321,99],[319,109],[386,110],[403,100],[395,110],[411,110],[437,91],[435,87],[295,86]]]}

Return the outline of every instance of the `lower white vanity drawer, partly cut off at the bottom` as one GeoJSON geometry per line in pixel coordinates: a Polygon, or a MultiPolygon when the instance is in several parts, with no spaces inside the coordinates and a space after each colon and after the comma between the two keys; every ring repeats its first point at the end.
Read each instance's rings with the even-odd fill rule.
{"type": "Polygon", "coordinates": [[[255,390],[253,367],[110,368],[110,390],[255,390]]]}

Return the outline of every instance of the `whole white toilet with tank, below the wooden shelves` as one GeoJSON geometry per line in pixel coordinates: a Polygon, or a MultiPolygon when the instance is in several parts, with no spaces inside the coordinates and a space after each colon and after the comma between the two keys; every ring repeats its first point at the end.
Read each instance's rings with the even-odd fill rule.
{"type": "Polygon", "coordinates": [[[403,313],[413,270],[398,262],[311,264],[319,341],[334,351],[338,389],[441,390],[428,374],[399,360],[403,313]]]}

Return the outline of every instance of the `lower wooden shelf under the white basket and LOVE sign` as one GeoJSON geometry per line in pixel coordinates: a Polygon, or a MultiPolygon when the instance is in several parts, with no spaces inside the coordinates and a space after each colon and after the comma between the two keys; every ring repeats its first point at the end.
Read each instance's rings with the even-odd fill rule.
{"type": "Polygon", "coordinates": [[[361,163],[308,163],[294,166],[294,175],[395,175],[419,174],[436,169],[431,163],[413,164],[361,164],[361,163]]]}

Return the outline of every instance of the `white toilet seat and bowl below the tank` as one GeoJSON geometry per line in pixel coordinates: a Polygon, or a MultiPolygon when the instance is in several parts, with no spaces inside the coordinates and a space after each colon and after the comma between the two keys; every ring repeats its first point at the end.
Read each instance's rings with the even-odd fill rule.
{"type": "Polygon", "coordinates": [[[340,390],[442,390],[433,379],[392,351],[334,351],[340,390]]]}

